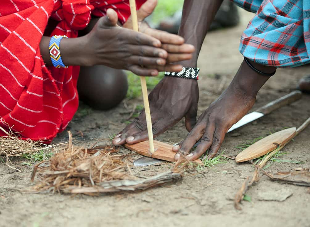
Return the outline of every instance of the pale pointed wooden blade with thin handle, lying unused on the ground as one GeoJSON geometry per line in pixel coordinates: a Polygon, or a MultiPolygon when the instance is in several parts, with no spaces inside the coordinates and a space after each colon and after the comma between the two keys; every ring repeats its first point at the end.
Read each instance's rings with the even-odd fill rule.
{"type": "Polygon", "coordinates": [[[273,133],[245,150],[241,151],[236,156],[236,162],[245,162],[266,155],[267,153],[281,148],[297,136],[303,129],[310,124],[310,117],[296,130],[295,127],[284,129],[279,132],[273,133]]]}

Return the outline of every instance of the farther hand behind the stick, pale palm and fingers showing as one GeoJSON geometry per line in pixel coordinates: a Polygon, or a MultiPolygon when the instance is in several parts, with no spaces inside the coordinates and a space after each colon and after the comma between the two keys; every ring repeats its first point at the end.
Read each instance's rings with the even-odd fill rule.
{"type": "MultiPolygon", "coordinates": [[[[195,51],[195,48],[193,45],[184,44],[183,37],[153,29],[148,26],[144,19],[152,14],[156,5],[157,0],[147,0],[137,11],[139,32],[150,35],[161,41],[161,48],[168,52],[168,56],[166,59],[167,64],[164,66],[159,66],[157,67],[157,69],[159,71],[179,72],[182,70],[182,65],[174,65],[171,63],[191,59],[193,57],[192,53],[195,51]]],[[[126,23],[123,24],[123,26],[125,28],[132,29],[131,16],[128,18],[126,23]]]]}

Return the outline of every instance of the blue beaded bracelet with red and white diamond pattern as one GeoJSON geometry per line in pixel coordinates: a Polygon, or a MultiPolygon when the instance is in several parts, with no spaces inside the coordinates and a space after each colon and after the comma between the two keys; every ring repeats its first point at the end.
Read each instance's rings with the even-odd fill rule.
{"type": "Polygon", "coordinates": [[[65,66],[62,62],[61,55],[60,55],[60,41],[62,38],[68,38],[67,36],[57,36],[54,35],[51,37],[50,40],[50,56],[53,65],[56,68],[68,68],[68,66],[65,66]]]}

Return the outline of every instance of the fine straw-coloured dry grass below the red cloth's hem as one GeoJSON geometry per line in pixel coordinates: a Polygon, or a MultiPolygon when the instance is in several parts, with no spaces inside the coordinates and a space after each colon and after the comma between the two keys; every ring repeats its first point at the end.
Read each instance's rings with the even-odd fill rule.
{"type": "Polygon", "coordinates": [[[42,150],[52,151],[55,150],[57,146],[48,146],[44,144],[44,141],[22,140],[19,133],[13,132],[9,127],[8,129],[7,131],[0,126],[0,130],[6,134],[6,136],[0,137],[0,156],[4,156],[9,167],[18,171],[20,170],[9,165],[11,164],[12,157],[23,156],[25,154],[36,154],[42,150]]]}

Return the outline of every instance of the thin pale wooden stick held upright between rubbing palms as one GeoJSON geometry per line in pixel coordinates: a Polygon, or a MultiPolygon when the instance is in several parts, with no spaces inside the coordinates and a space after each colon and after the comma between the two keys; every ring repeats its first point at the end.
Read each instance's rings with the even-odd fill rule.
{"type": "MultiPolygon", "coordinates": [[[[134,31],[138,32],[139,27],[138,27],[138,17],[137,17],[135,0],[129,0],[129,4],[130,4],[130,11],[131,11],[132,27],[134,31]]],[[[148,141],[150,143],[150,153],[153,154],[154,153],[154,142],[153,142],[153,131],[152,131],[152,119],[151,119],[150,106],[148,103],[148,89],[146,86],[145,76],[140,76],[140,81],[141,81],[141,88],[142,88],[142,95],[143,95],[146,125],[148,127],[148,141]]]]}

